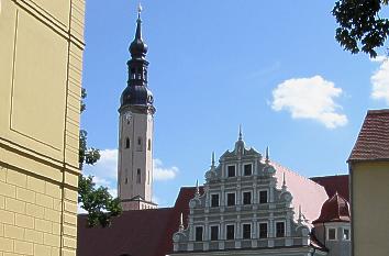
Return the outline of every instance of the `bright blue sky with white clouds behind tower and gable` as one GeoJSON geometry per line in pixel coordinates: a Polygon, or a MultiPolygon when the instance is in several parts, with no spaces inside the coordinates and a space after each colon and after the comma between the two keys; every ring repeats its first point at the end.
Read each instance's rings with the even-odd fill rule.
{"type": "MultiPolygon", "coordinates": [[[[303,176],[345,174],[368,109],[389,105],[389,62],[344,52],[333,1],[142,1],[154,93],[154,197],[171,205],[203,181],[211,154],[247,146],[303,176]]],[[[137,2],[87,2],[82,127],[102,160],[86,174],[115,189],[119,98],[137,2]]],[[[384,48],[379,51],[385,54],[384,48]]]]}

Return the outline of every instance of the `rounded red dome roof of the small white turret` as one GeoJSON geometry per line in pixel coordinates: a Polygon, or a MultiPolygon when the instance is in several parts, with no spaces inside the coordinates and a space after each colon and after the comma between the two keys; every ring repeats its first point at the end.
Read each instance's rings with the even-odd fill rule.
{"type": "Polygon", "coordinates": [[[349,222],[349,207],[346,199],[337,192],[323,203],[319,219],[312,223],[349,222]]]}

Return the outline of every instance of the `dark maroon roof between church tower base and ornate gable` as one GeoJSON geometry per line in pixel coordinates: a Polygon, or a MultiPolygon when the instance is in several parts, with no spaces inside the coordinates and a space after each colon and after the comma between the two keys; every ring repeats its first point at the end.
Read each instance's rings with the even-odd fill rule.
{"type": "MultiPolygon", "coordinates": [[[[194,187],[181,188],[174,208],[124,211],[109,227],[87,227],[87,215],[78,215],[77,256],[165,256],[173,252],[173,234],[180,213],[187,225],[194,187]]],[[[202,188],[200,188],[202,193],[202,188]]]]}

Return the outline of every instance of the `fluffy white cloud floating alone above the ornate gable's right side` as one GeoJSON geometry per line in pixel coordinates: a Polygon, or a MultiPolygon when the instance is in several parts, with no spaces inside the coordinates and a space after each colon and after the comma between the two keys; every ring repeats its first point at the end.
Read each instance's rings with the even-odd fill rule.
{"type": "Polygon", "coordinates": [[[337,112],[341,107],[334,102],[342,93],[342,88],[321,76],[292,78],[273,90],[271,108],[289,111],[293,119],[311,119],[335,129],[348,122],[345,114],[337,112]]]}

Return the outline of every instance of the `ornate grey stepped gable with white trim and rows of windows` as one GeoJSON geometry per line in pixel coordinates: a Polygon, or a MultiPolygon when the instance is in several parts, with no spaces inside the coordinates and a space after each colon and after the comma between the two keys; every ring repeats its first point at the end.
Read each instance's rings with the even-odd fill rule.
{"type": "MultiPolygon", "coordinates": [[[[234,151],[226,151],[219,163],[215,166],[212,156],[204,193],[197,189],[189,202],[187,229],[181,220],[179,231],[174,234],[176,254],[310,245],[310,224],[301,209],[294,221],[293,197],[285,172],[282,186],[277,188],[277,170],[268,151],[263,159],[254,148],[245,148],[240,134],[234,151]]],[[[323,189],[321,198],[326,199],[323,189]]]]}

